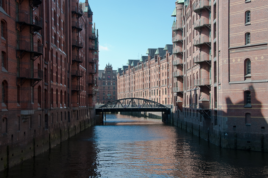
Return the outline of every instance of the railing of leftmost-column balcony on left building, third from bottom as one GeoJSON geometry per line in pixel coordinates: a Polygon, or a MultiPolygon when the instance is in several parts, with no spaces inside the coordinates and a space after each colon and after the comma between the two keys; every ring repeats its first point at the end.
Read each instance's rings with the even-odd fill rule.
{"type": "Polygon", "coordinates": [[[30,25],[42,27],[42,18],[38,15],[31,15],[26,12],[16,12],[16,22],[23,22],[30,25]]]}

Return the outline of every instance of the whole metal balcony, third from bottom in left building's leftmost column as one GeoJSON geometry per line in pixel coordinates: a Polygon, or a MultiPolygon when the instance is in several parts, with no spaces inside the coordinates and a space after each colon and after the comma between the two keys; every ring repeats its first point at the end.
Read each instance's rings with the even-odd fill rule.
{"type": "Polygon", "coordinates": [[[33,27],[31,32],[38,32],[42,29],[42,20],[43,19],[38,15],[31,15],[26,12],[16,12],[16,22],[19,24],[18,28],[22,25],[28,25],[33,27]]]}

